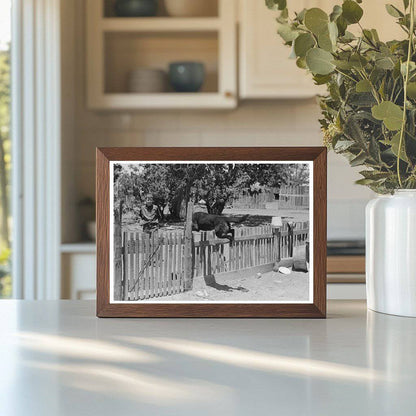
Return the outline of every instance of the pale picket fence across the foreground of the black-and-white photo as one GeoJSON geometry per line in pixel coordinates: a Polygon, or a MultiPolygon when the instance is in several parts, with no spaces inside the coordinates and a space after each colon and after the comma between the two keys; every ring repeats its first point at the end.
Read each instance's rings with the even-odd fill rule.
{"type": "MultiPolygon", "coordinates": [[[[293,246],[304,245],[308,222],[297,223],[293,234],[285,224],[281,235],[270,225],[239,227],[235,241],[218,239],[213,231],[193,233],[194,277],[241,272],[289,257],[293,246]]],[[[184,285],[185,241],[182,230],[123,233],[124,300],[142,300],[181,293],[184,285]]]]}

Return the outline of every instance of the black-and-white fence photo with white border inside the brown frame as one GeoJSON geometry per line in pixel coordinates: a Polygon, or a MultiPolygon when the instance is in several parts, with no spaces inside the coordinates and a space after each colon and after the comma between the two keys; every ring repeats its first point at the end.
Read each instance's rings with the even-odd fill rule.
{"type": "Polygon", "coordinates": [[[110,303],[312,303],[313,163],[110,162],[110,303]]]}

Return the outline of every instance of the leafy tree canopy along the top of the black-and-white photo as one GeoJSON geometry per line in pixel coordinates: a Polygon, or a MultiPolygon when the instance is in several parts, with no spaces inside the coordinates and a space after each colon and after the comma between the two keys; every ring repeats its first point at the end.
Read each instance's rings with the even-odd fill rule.
{"type": "Polygon", "coordinates": [[[276,188],[283,184],[305,183],[309,175],[306,164],[115,164],[115,203],[127,195],[134,204],[153,194],[163,209],[169,205],[174,219],[190,200],[204,199],[208,212],[220,214],[227,202],[253,185],[276,188]]]}

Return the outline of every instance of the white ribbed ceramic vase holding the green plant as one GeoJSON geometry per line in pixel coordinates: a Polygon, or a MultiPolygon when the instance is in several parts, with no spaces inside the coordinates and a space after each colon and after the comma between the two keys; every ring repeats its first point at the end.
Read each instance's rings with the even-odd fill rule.
{"type": "Polygon", "coordinates": [[[416,190],[367,204],[366,281],[369,309],[416,317],[416,190]]]}

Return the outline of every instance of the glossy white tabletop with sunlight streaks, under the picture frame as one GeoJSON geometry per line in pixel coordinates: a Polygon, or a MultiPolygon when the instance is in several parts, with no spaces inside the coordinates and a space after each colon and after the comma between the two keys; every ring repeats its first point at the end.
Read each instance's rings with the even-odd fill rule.
{"type": "Polygon", "coordinates": [[[416,319],[97,319],[0,301],[0,415],[412,415],[416,319]]]}

